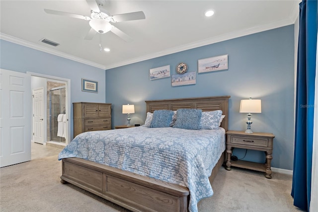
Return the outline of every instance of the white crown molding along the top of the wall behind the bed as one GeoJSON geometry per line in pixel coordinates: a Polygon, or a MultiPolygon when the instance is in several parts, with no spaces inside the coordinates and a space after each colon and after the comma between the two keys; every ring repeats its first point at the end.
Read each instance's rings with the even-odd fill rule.
{"type": "Polygon", "coordinates": [[[262,31],[267,31],[270,29],[275,29],[275,28],[291,25],[291,24],[294,24],[294,22],[295,21],[292,20],[291,18],[285,18],[285,19],[282,19],[282,20],[279,20],[276,22],[272,22],[269,24],[259,25],[259,26],[255,26],[255,27],[251,27],[251,28],[247,28],[247,29],[243,29],[243,30],[238,30],[235,32],[227,33],[227,34],[222,34],[222,35],[215,36],[212,38],[195,41],[192,43],[188,43],[186,45],[181,45],[181,46],[177,46],[174,48],[166,49],[166,50],[161,51],[161,52],[156,52],[154,54],[149,54],[147,56],[136,57],[136,58],[133,58],[131,60],[126,60],[126,61],[123,61],[120,63],[109,64],[109,65],[105,66],[105,69],[108,70],[108,69],[112,69],[112,68],[116,68],[116,67],[120,67],[120,66],[129,65],[132,63],[141,62],[144,60],[153,59],[156,57],[161,57],[161,56],[168,55],[168,54],[173,54],[173,53],[177,53],[177,52],[181,52],[181,51],[185,51],[185,50],[189,50],[189,49],[193,49],[193,48],[197,48],[197,47],[201,47],[201,46],[210,45],[213,43],[218,43],[218,42],[225,41],[225,40],[230,40],[230,39],[242,37],[245,35],[250,35],[250,34],[262,32],[262,31]]]}

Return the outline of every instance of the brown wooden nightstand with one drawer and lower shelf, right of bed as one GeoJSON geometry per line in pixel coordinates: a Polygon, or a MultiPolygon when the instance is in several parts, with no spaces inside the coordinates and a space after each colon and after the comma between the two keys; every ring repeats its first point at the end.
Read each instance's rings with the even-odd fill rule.
{"type": "Polygon", "coordinates": [[[245,133],[244,131],[227,131],[227,163],[226,169],[231,170],[231,166],[251,169],[256,171],[265,172],[266,178],[272,178],[272,170],[270,163],[272,161],[273,153],[273,138],[275,135],[266,132],[254,132],[251,134],[245,133]],[[232,149],[242,148],[242,149],[253,149],[264,151],[266,155],[265,164],[249,162],[249,161],[232,161],[231,154],[232,149]]]}

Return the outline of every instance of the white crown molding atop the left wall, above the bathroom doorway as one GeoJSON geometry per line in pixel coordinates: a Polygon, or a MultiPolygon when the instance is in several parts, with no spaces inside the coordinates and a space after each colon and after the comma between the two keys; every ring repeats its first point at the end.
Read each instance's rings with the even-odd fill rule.
{"type": "Polygon", "coordinates": [[[50,48],[47,48],[47,47],[43,47],[43,46],[31,43],[29,41],[22,40],[20,38],[16,38],[16,37],[7,35],[7,34],[1,33],[1,32],[0,32],[0,39],[105,70],[105,66],[104,65],[101,65],[101,64],[98,64],[98,63],[94,63],[94,62],[91,62],[91,61],[88,61],[88,60],[84,60],[82,58],[75,57],[73,55],[66,54],[66,53],[63,53],[63,52],[60,52],[60,51],[57,51],[57,50],[53,50],[53,49],[50,49],[50,48]]]}

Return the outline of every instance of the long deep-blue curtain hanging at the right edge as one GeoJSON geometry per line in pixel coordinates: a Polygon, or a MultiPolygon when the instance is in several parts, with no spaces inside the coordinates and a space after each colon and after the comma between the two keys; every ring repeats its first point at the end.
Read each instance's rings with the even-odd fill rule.
{"type": "Polygon", "coordinates": [[[308,211],[314,135],[317,0],[303,0],[299,5],[295,149],[291,195],[296,207],[308,211]]]}

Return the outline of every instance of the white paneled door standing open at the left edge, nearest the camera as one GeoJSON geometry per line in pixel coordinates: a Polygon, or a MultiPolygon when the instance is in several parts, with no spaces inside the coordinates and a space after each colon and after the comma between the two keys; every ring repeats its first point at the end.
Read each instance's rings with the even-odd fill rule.
{"type": "Polygon", "coordinates": [[[0,70],[0,167],[31,160],[31,80],[0,70]]]}

